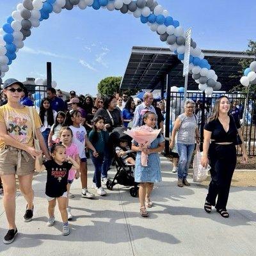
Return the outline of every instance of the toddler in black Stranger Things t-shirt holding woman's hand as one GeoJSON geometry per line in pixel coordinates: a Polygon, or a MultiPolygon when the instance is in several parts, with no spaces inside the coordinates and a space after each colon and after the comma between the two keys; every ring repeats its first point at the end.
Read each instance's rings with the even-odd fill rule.
{"type": "Polygon", "coordinates": [[[47,170],[47,182],[45,187],[45,195],[49,203],[49,219],[47,221],[47,226],[51,227],[54,224],[54,208],[57,200],[63,221],[63,236],[67,236],[70,232],[68,227],[67,213],[68,171],[71,168],[79,168],[79,164],[77,164],[76,161],[72,159],[72,157],[66,156],[65,153],[66,148],[64,145],[54,143],[51,148],[52,160],[41,164],[39,160],[40,157],[36,157],[35,163],[35,169],[37,172],[43,172],[44,170],[47,170]]]}

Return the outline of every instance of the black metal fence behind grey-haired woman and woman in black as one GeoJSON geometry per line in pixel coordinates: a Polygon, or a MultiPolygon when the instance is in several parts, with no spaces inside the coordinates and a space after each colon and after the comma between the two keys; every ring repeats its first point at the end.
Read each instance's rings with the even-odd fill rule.
{"type": "MultiPolygon", "coordinates": [[[[198,120],[198,129],[203,139],[204,124],[211,115],[214,102],[221,95],[227,95],[232,104],[232,114],[237,115],[242,124],[242,132],[249,156],[256,156],[256,95],[246,93],[212,93],[209,97],[205,93],[188,92],[187,99],[196,102],[195,115],[198,120]],[[248,99],[247,99],[248,97],[248,99]]],[[[171,112],[170,128],[180,113],[184,111],[184,95],[182,93],[171,92],[171,112]]],[[[237,154],[241,150],[237,147],[237,154]]]]}

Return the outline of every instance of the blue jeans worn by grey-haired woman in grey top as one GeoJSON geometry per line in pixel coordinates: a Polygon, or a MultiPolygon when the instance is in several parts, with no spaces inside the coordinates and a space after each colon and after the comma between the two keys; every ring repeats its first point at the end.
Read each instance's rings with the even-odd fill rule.
{"type": "Polygon", "coordinates": [[[195,144],[188,145],[183,143],[177,143],[179,152],[179,165],[178,165],[178,177],[180,179],[186,179],[188,176],[188,168],[191,162],[191,158],[195,149],[195,144]]]}

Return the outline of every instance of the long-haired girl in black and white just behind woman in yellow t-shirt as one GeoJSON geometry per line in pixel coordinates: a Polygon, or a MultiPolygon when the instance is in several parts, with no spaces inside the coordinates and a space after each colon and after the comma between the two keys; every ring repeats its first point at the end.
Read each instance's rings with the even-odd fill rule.
{"type": "Polygon", "coordinates": [[[45,144],[48,145],[48,136],[57,116],[57,112],[52,109],[49,99],[42,99],[40,104],[39,116],[42,122],[42,127],[40,130],[44,137],[45,144]]]}

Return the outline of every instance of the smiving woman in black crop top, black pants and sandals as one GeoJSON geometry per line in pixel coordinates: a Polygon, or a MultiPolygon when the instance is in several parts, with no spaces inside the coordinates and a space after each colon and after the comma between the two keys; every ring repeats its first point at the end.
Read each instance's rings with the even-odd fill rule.
{"type": "Polygon", "coordinates": [[[236,168],[237,133],[242,141],[240,147],[243,152],[244,163],[246,163],[248,157],[241,134],[240,122],[230,115],[228,97],[221,96],[216,100],[212,115],[204,127],[204,150],[201,163],[202,166],[206,167],[209,162],[212,179],[204,209],[210,213],[212,206],[215,206],[223,218],[229,217],[226,206],[232,175],[236,168]]]}

